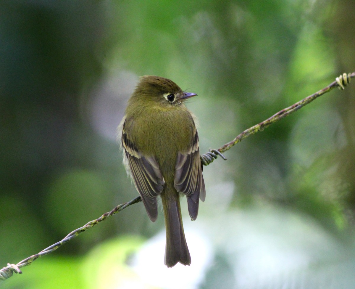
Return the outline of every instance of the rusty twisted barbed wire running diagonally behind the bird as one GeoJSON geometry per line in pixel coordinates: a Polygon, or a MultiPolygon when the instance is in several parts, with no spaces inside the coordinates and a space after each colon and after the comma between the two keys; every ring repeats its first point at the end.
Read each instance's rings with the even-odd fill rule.
{"type": "MultiPolygon", "coordinates": [[[[323,95],[324,93],[331,91],[335,87],[339,87],[339,89],[344,89],[344,86],[346,86],[350,82],[350,79],[354,78],[354,77],[355,77],[355,72],[349,73],[349,74],[344,73],[343,75],[340,75],[339,77],[336,78],[336,81],[332,82],[327,87],[324,87],[322,90],[320,90],[316,93],[313,93],[310,96],[307,96],[303,100],[295,103],[294,105],[292,105],[290,107],[282,109],[281,111],[279,111],[278,113],[275,113],[272,117],[269,117],[265,121],[263,121],[259,124],[256,124],[249,129],[244,130],[244,132],[239,134],[234,140],[221,146],[217,151],[222,153],[222,152],[229,150],[232,146],[239,143],[243,139],[249,137],[252,134],[255,134],[256,132],[259,132],[259,131],[267,128],[270,124],[275,123],[275,122],[279,121],[280,119],[288,116],[289,114],[295,112],[296,110],[300,109],[301,107],[304,107],[306,104],[315,100],[317,97],[323,95]]],[[[215,154],[211,154],[211,152],[208,152],[207,154],[209,156],[208,157],[209,161],[203,162],[204,165],[210,164],[213,161],[213,159],[217,158],[217,155],[218,155],[218,153],[217,153],[217,155],[215,155],[215,154]]],[[[204,154],[204,156],[205,155],[206,154],[204,154]]],[[[26,259],[23,259],[22,261],[18,262],[17,264],[7,263],[6,267],[0,269],[0,282],[2,280],[6,280],[7,278],[10,278],[13,275],[13,273],[20,273],[21,274],[22,273],[20,270],[21,267],[30,265],[38,257],[47,255],[47,254],[57,250],[60,246],[62,246],[64,243],[70,241],[71,239],[73,239],[74,237],[79,235],[81,232],[86,231],[89,228],[92,228],[94,225],[97,225],[101,221],[122,211],[123,209],[129,207],[130,205],[136,204],[138,202],[141,202],[141,197],[136,197],[127,203],[123,203],[123,204],[118,205],[117,207],[112,209],[110,212],[107,212],[107,213],[103,214],[102,216],[100,216],[98,219],[92,220],[92,221],[88,222],[87,224],[85,224],[84,226],[70,232],[61,241],[54,243],[53,245],[45,248],[44,250],[40,251],[39,253],[37,253],[35,255],[32,255],[32,256],[27,257],[26,259]]]]}

